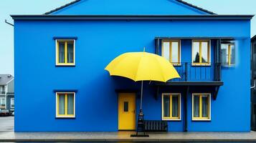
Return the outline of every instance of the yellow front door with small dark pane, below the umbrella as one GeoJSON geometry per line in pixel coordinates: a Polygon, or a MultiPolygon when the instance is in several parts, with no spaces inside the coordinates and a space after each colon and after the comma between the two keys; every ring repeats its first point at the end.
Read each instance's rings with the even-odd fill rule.
{"type": "Polygon", "coordinates": [[[136,94],[120,93],[118,95],[118,129],[136,129],[136,94]]]}

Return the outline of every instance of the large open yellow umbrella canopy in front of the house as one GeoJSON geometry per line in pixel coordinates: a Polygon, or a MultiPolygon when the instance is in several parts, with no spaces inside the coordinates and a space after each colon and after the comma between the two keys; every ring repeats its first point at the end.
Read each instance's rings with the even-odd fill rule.
{"type": "Polygon", "coordinates": [[[105,67],[111,76],[120,76],[133,81],[167,82],[180,78],[174,66],[162,56],[143,52],[121,54],[105,67]]]}

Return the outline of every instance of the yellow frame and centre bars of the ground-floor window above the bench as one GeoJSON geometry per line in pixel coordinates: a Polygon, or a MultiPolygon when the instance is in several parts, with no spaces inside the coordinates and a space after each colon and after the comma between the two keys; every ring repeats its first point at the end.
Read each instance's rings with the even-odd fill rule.
{"type": "Polygon", "coordinates": [[[163,93],[162,94],[162,120],[181,120],[181,94],[180,93],[163,93]],[[170,98],[170,117],[164,117],[163,115],[163,97],[168,96],[170,98]],[[179,117],[173,117],[172,116],[172,97],[178,96],[179,98],[179,108],[178,108],[178,113],[179,117]]]}

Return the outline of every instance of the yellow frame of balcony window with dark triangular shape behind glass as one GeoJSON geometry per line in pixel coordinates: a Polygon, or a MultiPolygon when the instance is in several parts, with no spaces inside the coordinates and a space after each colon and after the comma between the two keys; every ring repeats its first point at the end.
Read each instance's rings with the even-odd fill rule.
{"type": "Polygon", "coordinates": [[[209,66],[211,65],[211,41],[210,40],[192,40],[192,65],[193,66],[209,66]],[[199,63],[194,62],[193,56],[194,56],[194,42],[199,42],[199,63]],[[202,63],[202,42],[207,42],[208,47],[207,47],[207,63],[202,63]]]}

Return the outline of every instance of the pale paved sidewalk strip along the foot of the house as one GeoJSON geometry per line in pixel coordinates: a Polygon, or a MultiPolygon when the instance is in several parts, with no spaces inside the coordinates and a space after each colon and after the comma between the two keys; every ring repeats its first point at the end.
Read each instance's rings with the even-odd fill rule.
{"type": "Polygon", "coordinates": [[[256,142],[256,132],[1,132],[0,142],[256,142]]]}

